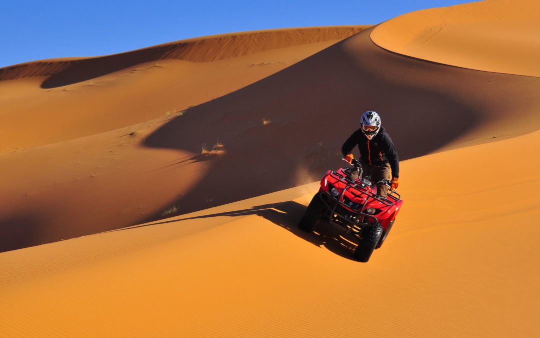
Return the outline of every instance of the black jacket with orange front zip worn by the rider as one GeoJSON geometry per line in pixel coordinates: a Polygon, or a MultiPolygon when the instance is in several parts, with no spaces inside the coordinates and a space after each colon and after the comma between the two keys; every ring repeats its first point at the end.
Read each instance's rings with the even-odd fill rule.
{"type": "Polygon", "coordinates": [[[362,161],[369,165],[390,163],[392,177],[400,177],[400,160],[397,158],[394,143],[384,128],[381,127],[381,130],[371,140],[368,140],[361,129],[353,132],[353,135],[350,135],[341,147],[343,156],[350,154],[355,145],[358,145],[362,161]]]}

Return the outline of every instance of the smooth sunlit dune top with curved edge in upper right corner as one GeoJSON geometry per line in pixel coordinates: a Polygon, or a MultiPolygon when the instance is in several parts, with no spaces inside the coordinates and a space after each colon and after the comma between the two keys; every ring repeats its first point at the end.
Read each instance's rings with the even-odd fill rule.
{"type": "Polygon", "coordinates": [[[540,2],[485,0],[386,21],[373,41],[393,52],[458,67],[540,76],[540,2]]]}

